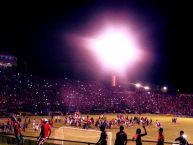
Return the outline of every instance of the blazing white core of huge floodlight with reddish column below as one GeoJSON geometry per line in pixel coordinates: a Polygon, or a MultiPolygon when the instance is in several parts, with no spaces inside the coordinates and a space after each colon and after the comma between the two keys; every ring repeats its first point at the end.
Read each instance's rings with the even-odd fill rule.
{"type": "Polygon", "coordinates": [[[117,75],[124,75],[129,66],[140,58],[136,39],[128,27],[109,26],[92,39],[90,49],[103,68],[112,74],[112,86],[117,75]]]}

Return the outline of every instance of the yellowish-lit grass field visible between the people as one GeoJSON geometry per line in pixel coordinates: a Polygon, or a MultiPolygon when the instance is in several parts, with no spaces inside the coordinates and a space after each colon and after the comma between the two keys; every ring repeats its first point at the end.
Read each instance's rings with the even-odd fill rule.
{"type": "MultiPolygon", "coordinates": [[[[94,119],[98,118],[98,115],[91,115],[94,119]]],[[[107,120],[110,120],[112,118],[116,118],[116,115],[113,114],[106,114],[107,120]]],[[[129,116],[134,116],[132,114],[129,114],[129,116]]],[[[136,115],[135,115],[136,116],[136,115]]],[[[169,115],[152,115],[152,114],[142,114],[143,117],[152,118],[153,125],[146,127],[147,129],[147,136],[143,137],[143,140],[157,140],[158,136],[158,129],[155,127],[155,121],[158,120],[161,123],[161,126],[164,128],[164,136],[166,142],[174,142],[175,138],[179,136],[180,130],[184,130],[187,140],[189,143],[193,143],[193,118],[181,118],[178,117],[177,123],[174,124],[171,122],[172,116],[169,115]]],[[[35,118],[36,122],[40,121],[42,117],[40,116],[31,116],[31,122],[35,118]]],[[[49,117],[47,117],[49,118],[49,117]]],[[[4,120],[4,119],[3,119],[4,120]]],[[[1,122],[3,121],[1,119],[1,122]]],[[[63,120],[63,118],[62,118],[63,120]]],[[[142,129],[141,125],[134,125],[132,127],[125,127],[125,132],[128,135],[128,139],[131,139],[137,128],[142,129]]],[[[114,144],[116,132],[119,130],[118,126],[113,126],[112,129],[107,129],[107,132],[112,132],[112,144],[114,144]]],[[[29,125],[29,128],[26,130],[24,135],[29,136],[38,136],[39,132],[34,131],[32,129],[32,124],[29,125]]],[[[92,127],[89,130],[81,130],[81,129],[75,129],[69,126],[64,126],[63,122],[61,123],[54,123],[54,126],[52,128],[52,135],[50,138],[57,138],[57,139],[65,139],[65,140],[77,140],[77,141],[88,141],[88,142],[97,142],[99,139],[100,132],[99,129],[92,127]],[[94,131],[93,131],[94,130],[94,131]],[[96,130],[96,131],[95,131],[96,130]]],[[[61,142],[55,142],[58,144],[62,144],[61,142]]],[[[63,143],[65,145],[75,145],[75,143],[63,143]]],[[[134,145],[135,142],[129,142],[128,144],[134,145]]],[[[143,143],[144,145],[155,145],[156,143],[143,143]]]]}

